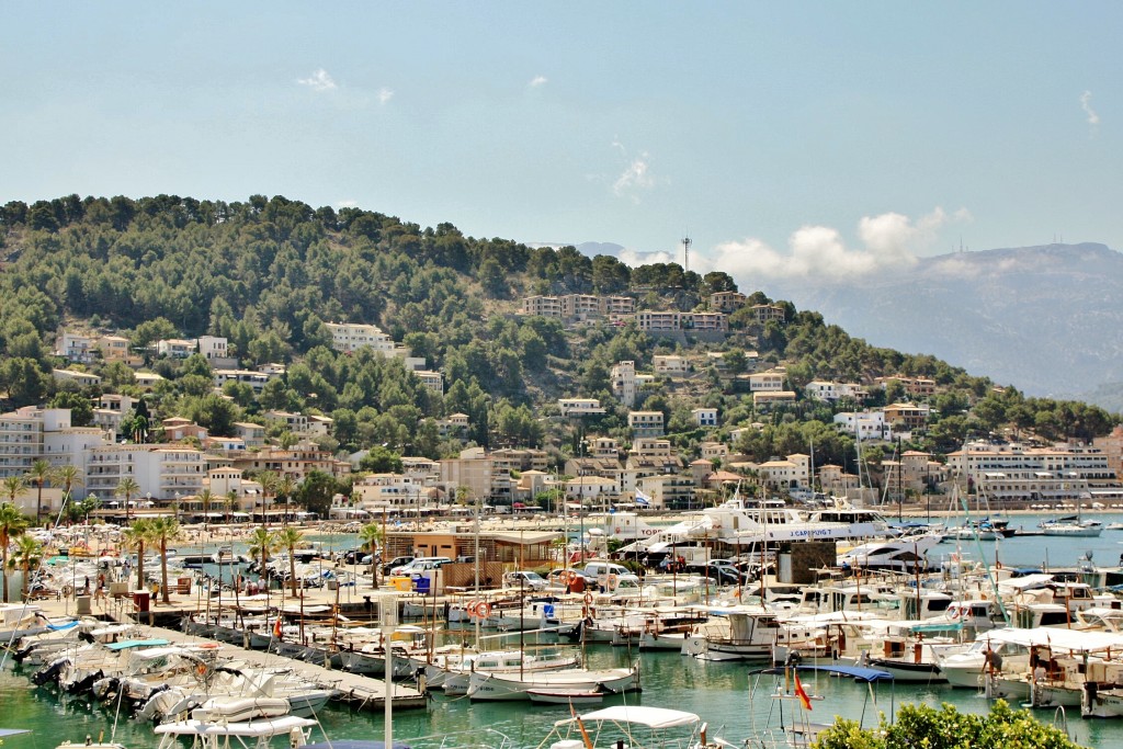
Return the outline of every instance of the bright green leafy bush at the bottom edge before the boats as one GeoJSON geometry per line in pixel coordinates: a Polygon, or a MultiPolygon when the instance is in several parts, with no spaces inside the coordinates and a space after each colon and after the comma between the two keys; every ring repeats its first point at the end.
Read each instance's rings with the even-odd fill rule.
{"type": "Polygon", "coordinates": [[[905,705],[893,725],[882,715],[879,729],[861,729],[838,719],[819,734],[815,749],[1079,749],[1065,732],[1038,721],[1028,710],[999,700],[987,715],[960,713],[943,703],[905,705]]]}

